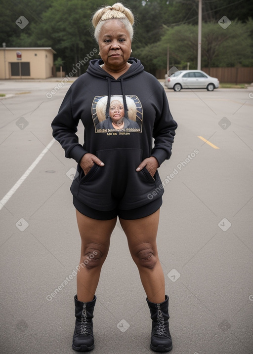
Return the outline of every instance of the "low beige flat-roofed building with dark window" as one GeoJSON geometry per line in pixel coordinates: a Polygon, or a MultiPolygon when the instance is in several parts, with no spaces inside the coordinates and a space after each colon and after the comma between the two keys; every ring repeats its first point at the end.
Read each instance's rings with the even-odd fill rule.
{"type": "Polygon", "coordinates": [[[0,79],[51,78],[53,54],[50,48],[0,48],[0,79]]]}

